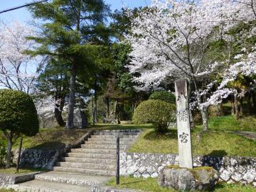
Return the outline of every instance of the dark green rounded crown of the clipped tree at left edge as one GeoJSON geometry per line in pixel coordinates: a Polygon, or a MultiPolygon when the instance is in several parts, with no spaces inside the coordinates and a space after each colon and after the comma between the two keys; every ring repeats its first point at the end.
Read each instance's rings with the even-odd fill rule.
{"type": "Polygon", "coordinates": [[[16,136],[38,133],[38,115],[31,96],[16,90],[0,91],[0,129],[16,136]]]}

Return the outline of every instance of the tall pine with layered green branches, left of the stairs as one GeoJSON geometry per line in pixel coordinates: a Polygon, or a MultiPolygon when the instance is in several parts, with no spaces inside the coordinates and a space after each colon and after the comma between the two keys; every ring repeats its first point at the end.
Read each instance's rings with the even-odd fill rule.
{"type": "Polygon", "coordinates": [[[81,69],[91,69],[87,67],[93,63],[90,53],[101,49],[109,39],[104,25],[109,6],[103,0],[53,0],[32,6],[30,10],[34,18],[44,22],[39,35],[31,37],[41,46],[28,53],[54,56],[68,63],[70,82],[66,126],[73,129],[77,74],[81,69]]]}

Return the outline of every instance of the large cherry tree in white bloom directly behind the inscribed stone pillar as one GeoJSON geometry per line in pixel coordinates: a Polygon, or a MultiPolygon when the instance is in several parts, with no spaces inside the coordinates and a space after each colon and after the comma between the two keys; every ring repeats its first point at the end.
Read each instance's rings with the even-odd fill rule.
{"type": "Polygon", "coordinates": [[[236,23],[251,20],[254,6],[249,1],[152,1],[133,19],[126,36],[133,48],[130,73],[140,74],[134,78],[141,83],[137,90],[156,89],[168,77],[188,79],[207,130],[209,102],[204,85],[210,87],[209,75],[223,67],[208,48],[236,23]]]}

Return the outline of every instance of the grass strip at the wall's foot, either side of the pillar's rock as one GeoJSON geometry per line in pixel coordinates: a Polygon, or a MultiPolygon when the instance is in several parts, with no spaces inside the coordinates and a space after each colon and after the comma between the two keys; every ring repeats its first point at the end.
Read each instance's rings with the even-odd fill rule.
{"type": "MultiPolygon", "coordinates": [[[[174,189],[163,188],[159,186],[156,178],[132,178],[121,177],[120,185],[115,184],[115,178],[112,178],[107,186],[114,186],[116,188],[132,188],[135,190],[151,191],[151,192],[174,192],[174,189]]],[[[252,192],[255,188],[252,186],[240,186],[230,184],[218,184],[215,188],[216,192],[252,192]]]]}

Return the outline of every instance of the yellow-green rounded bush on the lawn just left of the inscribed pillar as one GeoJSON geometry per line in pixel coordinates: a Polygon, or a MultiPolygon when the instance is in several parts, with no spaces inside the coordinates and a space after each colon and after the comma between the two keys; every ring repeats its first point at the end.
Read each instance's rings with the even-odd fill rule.
{"type": "Polygon", "coordinates": [[[166,132],[169,122],[176,121],[176,106],[162,100],[147,100],[135,110],[135,124],[152,123],[156,132],[166,132]]]}

